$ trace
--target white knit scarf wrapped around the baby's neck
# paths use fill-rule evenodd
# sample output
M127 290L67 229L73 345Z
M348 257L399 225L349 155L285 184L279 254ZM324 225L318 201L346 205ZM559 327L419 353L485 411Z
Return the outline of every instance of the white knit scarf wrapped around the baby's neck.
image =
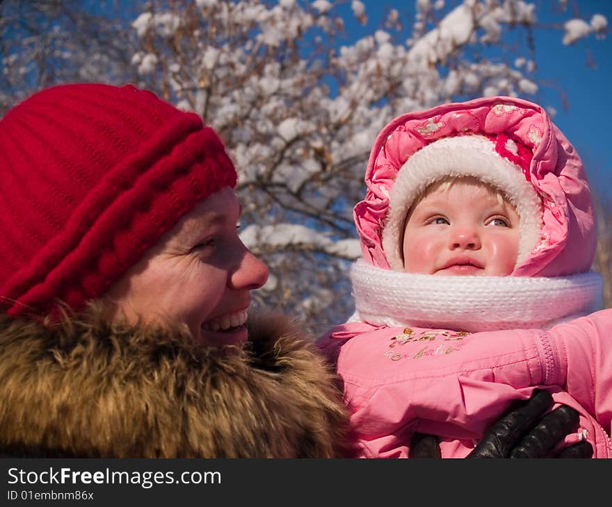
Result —
M602 277L595 272L554 278L434 276L351 267L355 314L387 326L458 331L542 328L602 307Z

